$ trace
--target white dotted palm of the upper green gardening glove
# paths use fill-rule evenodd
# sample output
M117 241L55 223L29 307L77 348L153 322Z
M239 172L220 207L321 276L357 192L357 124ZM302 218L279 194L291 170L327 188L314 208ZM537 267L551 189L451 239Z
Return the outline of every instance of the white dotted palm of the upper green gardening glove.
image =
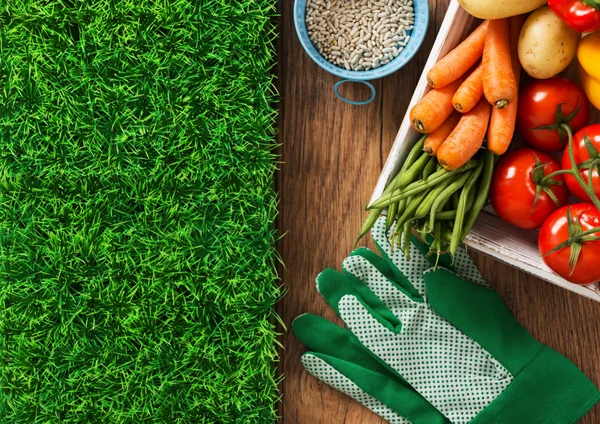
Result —
M506 368L426 302L394 305L387 294L390 282L382 275L369 285L388 296L387 304L402 322L400 331L388 330L352 295L340 300L341 318L367 349L450 421L468 423L510 384L513 377Z

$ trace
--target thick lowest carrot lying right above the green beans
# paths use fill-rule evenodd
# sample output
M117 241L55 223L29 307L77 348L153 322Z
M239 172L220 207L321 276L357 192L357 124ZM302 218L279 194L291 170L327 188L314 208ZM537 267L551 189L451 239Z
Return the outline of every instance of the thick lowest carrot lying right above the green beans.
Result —
M446 169L463 166L481 147L492 107L481 98L477 106L464 113L454 131L438 150L438 162Z

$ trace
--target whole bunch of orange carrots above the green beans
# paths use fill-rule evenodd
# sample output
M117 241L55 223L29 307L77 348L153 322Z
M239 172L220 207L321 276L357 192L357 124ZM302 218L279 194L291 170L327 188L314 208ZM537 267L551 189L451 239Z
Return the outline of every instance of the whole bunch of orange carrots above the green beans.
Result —
M448 170L481 148L506 152L514 135L521 64L517 45L525 16L484 21L427 74L432 90L410 112L428 134L423 150Z

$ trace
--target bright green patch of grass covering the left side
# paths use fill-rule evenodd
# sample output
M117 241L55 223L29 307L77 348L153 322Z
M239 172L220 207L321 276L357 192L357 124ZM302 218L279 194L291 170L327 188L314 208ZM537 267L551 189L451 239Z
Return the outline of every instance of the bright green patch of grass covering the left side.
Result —
M275 418L274 0L0 0L0 421Z

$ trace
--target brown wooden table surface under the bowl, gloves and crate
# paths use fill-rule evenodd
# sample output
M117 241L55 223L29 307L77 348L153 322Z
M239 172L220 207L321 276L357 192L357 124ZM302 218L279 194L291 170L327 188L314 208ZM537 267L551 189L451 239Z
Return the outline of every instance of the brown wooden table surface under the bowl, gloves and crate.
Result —
M287 328L294 317L312 312L341 323L315 289L327 267L340 269L421 74L448 0L430 0L430 25L416 57L393 75L374 81L377 98L350 106L333 94L338 80L302 50L293 25L293 1L280 2L278 89L281 94L281 160L278 248L288 290L278 311ZM345 87L365 98L363 87ZM373 248L370 241L365 241ZM519 272L481 254L472 257L519 322L540 342L563 353L600 385L600 304ZM300 363L304 347L291 330L282 336L281 422L337 424L384 422L349 397L309 375ZM600 423L600 406L581 421ZM527 423L506 423L527 424ZM560 424L560 423L558 423Z

